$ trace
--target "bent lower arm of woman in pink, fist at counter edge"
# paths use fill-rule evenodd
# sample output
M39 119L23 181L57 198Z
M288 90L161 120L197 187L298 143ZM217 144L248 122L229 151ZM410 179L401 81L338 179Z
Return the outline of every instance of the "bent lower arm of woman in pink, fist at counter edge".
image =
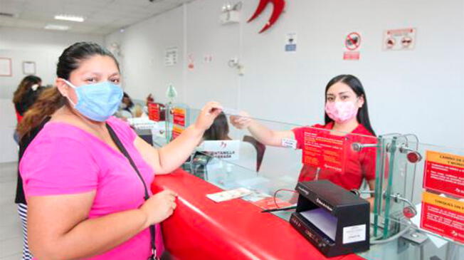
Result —
M95 191L28 198L28 243L38 259L80 259L115 248L175 209L174 192L164 191L139 209L88 219Z

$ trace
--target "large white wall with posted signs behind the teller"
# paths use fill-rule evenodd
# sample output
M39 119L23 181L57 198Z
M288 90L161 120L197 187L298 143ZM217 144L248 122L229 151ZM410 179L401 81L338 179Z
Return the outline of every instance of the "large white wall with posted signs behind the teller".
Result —
M364 83L378 134L414 132L422 142L464 147L464 0L287 1L261 34L270 7L246 23L258 0L243 1L241 23L221 26L222 4L197 0L107 36L107 44L122 44L126 90L165 100L172 82L179 101L195 108L218 100L255 117L311 125L322 122L327 81L352 73ZM382 51L384 30L407 27L417 28L413 51ZM342 60L351 31L362 33L360 61ZM283 51L290 32L297 33L297 53ZM184 57L174 67L162 64L169 46ZM186 67L188 54L194 71ZM201 61L205 54L212 63ZM245 66L242 77L226 65L234 56Z

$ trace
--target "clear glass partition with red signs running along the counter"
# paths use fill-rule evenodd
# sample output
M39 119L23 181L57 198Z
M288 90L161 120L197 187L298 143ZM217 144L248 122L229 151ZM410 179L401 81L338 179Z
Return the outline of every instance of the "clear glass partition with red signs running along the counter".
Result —
M200 113L183 104L165 107L165 121L145 124L157 147L188 128ZM226 110L222 122L228 125L226 135L205 135L182 166L184 170L221 189L250 189L253 193L243 199L261 209L294 205L299 181L330 180L352 190L371 203L371 250L360 254L367 259L459 259L464 254L460 237L464 229L464 189L460 189L464 186L464 150L423 144L415 135L374 137L249 118L265 129L287 134L294 130L269 145L248 129L234 127L231 117L236 115ZM137 128L137 120L130 123ZM458 173L450 177L443 169ZM424 180L439 182L428 187ZM447 187L455 187L454 193ZM423 211L424 205L428 212ZM443 205L451 213L441 212ZM272 214L288 220L292 212ZM439 231L439 224L458 231Z

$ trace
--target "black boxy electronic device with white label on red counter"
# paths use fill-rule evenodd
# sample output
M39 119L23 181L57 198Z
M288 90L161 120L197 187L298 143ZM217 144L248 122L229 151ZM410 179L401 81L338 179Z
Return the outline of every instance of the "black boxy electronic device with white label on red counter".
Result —
M328 180L299 182L290 224L328 257L369 250L369 202Z

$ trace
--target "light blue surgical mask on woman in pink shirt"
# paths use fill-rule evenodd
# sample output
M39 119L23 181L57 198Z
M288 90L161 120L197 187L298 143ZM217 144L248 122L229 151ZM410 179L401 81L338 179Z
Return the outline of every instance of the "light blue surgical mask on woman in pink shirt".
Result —
M76 87L68 80L65 80L71 88L74 88L78 96L78 103L73 103L68 98L75 110L91 120L103 122L113 115L122 100L122 89L119 85L110 81L103 81L95 84L80 85Z

